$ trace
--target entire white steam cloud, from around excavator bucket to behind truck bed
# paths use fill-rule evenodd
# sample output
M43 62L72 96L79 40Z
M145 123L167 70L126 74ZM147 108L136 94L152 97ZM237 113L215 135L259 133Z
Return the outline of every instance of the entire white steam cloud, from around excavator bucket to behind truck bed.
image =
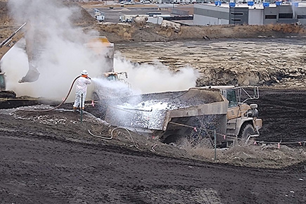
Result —
M1 68L6 72L7 90L15 91L18 96L61 99L82 70L88 70L89 76L96 82L96 77L107 71L103 68L105 58L97 58L93 51L84 46L98 33L94 30L85 33L72 25L70 19L81 17L78 16L81 13L78 7L68 8L63 6L62 1L56 0L11 0L8 5L15 22L19 25L26 22L29 26L25 39L33 43L30 46L34 50L39 51L34 54L40 76L36 82L18 83L28 70L25 41L20 41L1 62ZM118 53L114 68L116 72L127 71L127 81L141 93L185 90L195 87L198 77L198 72L193 68L186 67L174 73L159 62L155 62L155 65L138 65L125 60ZM87 96L90 97L90 94ZM74 94L70 94L68 101L73 101L73 97Z

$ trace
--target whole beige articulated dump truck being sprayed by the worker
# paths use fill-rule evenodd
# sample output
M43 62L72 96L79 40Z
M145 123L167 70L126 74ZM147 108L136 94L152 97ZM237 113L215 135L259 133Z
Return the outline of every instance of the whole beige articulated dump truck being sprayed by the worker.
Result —
M233 86L141 94L108 101L105 120L166 144L186 138L212 141L216 134L217 146L229 146L238 138L259 136L257 105L246 103L258 97L258 87Z

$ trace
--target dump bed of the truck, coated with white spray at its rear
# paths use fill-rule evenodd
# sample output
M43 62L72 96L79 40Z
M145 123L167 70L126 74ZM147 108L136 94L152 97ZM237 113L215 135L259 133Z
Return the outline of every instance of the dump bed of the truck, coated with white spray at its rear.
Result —
M216 89L191 88L188 91L171 91L130 96L115 100L106 113L106 122L111 125L161 131L170 130L170 121L191 124L191 117L219 115L225 133L228 101ZM173 129L173 127L171 128Z

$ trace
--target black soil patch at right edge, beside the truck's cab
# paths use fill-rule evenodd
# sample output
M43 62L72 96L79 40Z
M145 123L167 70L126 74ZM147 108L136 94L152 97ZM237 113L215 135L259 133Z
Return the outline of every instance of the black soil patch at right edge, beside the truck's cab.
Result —
M306 89L260 89L258 104L264 120L260 139L264 141L305 141Z

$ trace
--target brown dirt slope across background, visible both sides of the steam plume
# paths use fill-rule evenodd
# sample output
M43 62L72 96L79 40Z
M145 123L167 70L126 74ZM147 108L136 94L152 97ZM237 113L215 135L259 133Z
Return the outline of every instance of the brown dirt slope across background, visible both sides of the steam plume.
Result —
M79 15L73 15L72 23L83 27L84 31L97 30L108 37L110 42L164 42L182 39L227 39L227 38L257 38L257 37L288 37L303 36L305 27L294 24L281 25L214 25L214 26L184 26L180 30L173 27L162 27L152 23L113 24L96 23L94 18L82 5L64 1L64 6L77 6ZM17 27L8 13L6 1L0 1L1 39L8 37Z

